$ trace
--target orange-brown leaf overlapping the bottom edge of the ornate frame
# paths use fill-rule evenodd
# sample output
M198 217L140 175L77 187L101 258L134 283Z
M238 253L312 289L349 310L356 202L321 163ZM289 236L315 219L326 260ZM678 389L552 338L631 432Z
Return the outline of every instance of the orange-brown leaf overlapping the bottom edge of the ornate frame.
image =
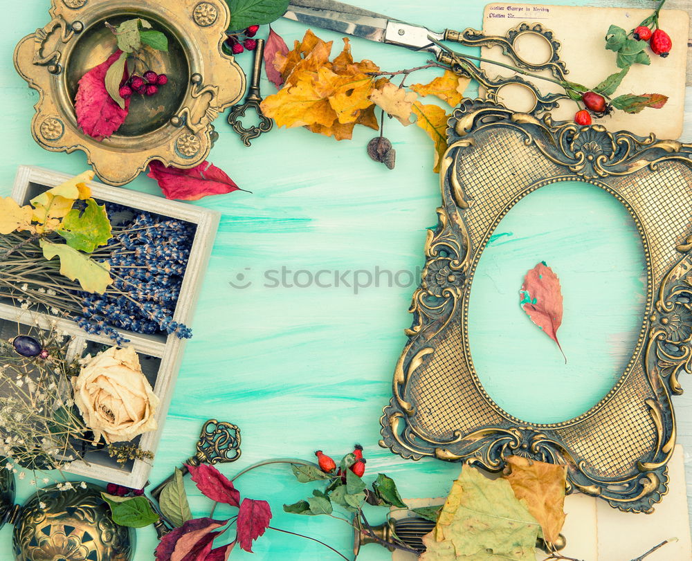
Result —
M514 495L524 499L531 515L543 528L543 539L555 543L565 523L567 468L553 463L510 456L507 476Z

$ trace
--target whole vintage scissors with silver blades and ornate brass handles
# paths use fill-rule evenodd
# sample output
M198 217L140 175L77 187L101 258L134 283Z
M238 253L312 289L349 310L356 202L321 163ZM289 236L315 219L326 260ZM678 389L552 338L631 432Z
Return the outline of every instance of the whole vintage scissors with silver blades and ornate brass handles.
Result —
M444 48L435 44L450 41L466 46L499 45L504 55L510 57L516 66L534 72L548 70L557 80L565 80L568 71L558 54L560 43L556 41L552 31L544 29L540 24L522 23L509 30L504 37L484 35L482 31L472 28L462 32L446 29L437 33L424 26L407 24L405 21L333 0L291 0L284 17L300 21L309 27L319 27L370 41L432 53L438 62L450 66L455 73L470 76L479 82L486 91L486 98L495 102L499 101L498 94L505 86L522 86L535 98L534 107L529 112L550 111L558 106L559 100L567 98L565 93L542 94L532 82L519 75L491 78L465 57L451 57ZM527 34L538 36L547 44L549 55L543 62L531 62L518 54L515 44L520 37ZM435 42L431 39L435 39Z

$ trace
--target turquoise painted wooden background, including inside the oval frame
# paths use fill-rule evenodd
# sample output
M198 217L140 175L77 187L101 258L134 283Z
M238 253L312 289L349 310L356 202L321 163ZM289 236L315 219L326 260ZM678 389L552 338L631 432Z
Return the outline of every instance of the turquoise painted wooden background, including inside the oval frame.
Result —
M358 4L434 29L446 25L477 28L484 6L478 0L359 0ZM612 6L612 2L608 4ZM629 4L651 3L635 0ZM684 6L689 8L687 0L677 2L677 7ZM35 144L29 123L37 95L12 68L15 44L48 21L47 10L45 0L13 3L2 24L2 195L10 192L19 164L69 173L86 167L79 152L52 154ZM274 27L289 44L304 33L304 27L290 21L278 21ZM335 39L335 49L340 46L338 35L316 32ZM353 41L353 52L356 58L370 58L391 71L426 60L422 54L358 39ZM247 69L251 57L245 54L239 61ZM421 72L413 78L414 82L426 82L434 75ZM263 80L262 89L268 94L273 86ZM221 136L210 160L253 194L237 192L193 203L219 210L223 217L152 482L158 483L192 454L201 424L216 417L237 423L243 432L242 459L222 467L226 475L271 457L310 458L318 448L338 456L359 441L369 460L366 474L385 472L394 477L404 497L443 495L458 466L434 460L403 461L377 445L378 419L390 398L392 369L406 341L403 328L410 324L407 309L415 288L412 279L422 265L426 228L434 226L439 204L438 176L431 172L430 140L415 126L405 129L388 122L385 134L397 149L397 167L388 171L367 158L365 145L374 131L363 127L353 140L342 142L303 129L280 129L253 142L249 149L229 131L223 118L219 118L217 130ZM692 140L690 127L683 140ZM474 360L489 366L487 383L493 397L516 412L535 410L535 421L569 416L597 401L610 387L614 369L626 355L633 331L639 329L641 257L631 224L614 200L583 187L565 185L564 194L574 206L561 208L562 214L556 212L562 199L554 190L546 189L522 201L522 208L509 214L498 230L503 235L493 242L493 254L484 257L486 275L477 277L474 288L473 305L480 312L472 326L472 336L477 339ZM145 176L127 188L159 193L154 181ZM559 227L561 221L567 221L565 217L585 215L587 220L572 220L569 230ZM615 259L614 255L621 257ZM567 367L552 342L528 324L516 304L525 270L545 256L565 286L569 312L565 312L561 335L570 358ZM587 265L588 270L583 270ZM379 286L373 283L357 294L348 286L271 288L275 284L268 280L275 277L271 271L280 272L282 267L293 273L329 269L339 274L355 270L375 273L379 268L399 275L389 286L387 273L382 273ZM295 285L293 273L286 275ZM365 273L360 275L366 278ZM610 304L606 302L601 309L596 305L601 302L599 292L605 282L617 276L621 277L622 291L613 291ZM352 282L353 273L346 278ZM306 279L307 273L300 273L295 280L304 284ZM230 282L251 285L233 288ZM614 321L607 322L606 318ZM493 364L497 338L501 336L504 344L511 333L521 340L513 341L506 362ZM594 356L590 358L582 349L592 349ZM536 358L540 371L531 369ZM602 365L598 375L583 374L583 367L594 362ZM524 383L529 375L541 384ZM576 380L581 384L583 379L590 380L585 387L592 391L576 400L559 395L565 389L571 392ZM692 387L689 380L682 383ZM530 387L530 391L519 394L522 387ZM680 441L692 450L692 398L682 396L675 404ZM692 482L692 461L689 454L686 458L687 477ZM244 496L268 500L274 526L320 537L348 555L352 533L345 523L282 512L282 504L309 495L311 489L295 482L286 468L256 470L238 484ZM188 491L194 513L208 515L210 502L189 481ZM20 499L29 493L26 480L22 481ZM219 516L225 514L230 511L217 511ZM384 511L370 513L371 522L384 518ZM151 560L154 531L144 528L137 534L136 560ZM2 561L12 558L10 540L11 529L3 528ZM236 549L232 558L253 556ZM255 545L257 560L318 558L337 557L314 542L274 531L267 531ZM366 546L360 558L385 560L389 553L379 546Z

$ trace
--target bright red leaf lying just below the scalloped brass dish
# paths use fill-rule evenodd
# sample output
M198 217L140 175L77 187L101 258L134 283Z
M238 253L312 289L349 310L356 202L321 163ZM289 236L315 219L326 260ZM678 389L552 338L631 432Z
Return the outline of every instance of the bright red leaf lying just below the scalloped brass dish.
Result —
M149 162L149 177L156 179L166 199L197 201L203 196L240 189L223 170L209 162L202 162L190 169L178 169L153 160Z

